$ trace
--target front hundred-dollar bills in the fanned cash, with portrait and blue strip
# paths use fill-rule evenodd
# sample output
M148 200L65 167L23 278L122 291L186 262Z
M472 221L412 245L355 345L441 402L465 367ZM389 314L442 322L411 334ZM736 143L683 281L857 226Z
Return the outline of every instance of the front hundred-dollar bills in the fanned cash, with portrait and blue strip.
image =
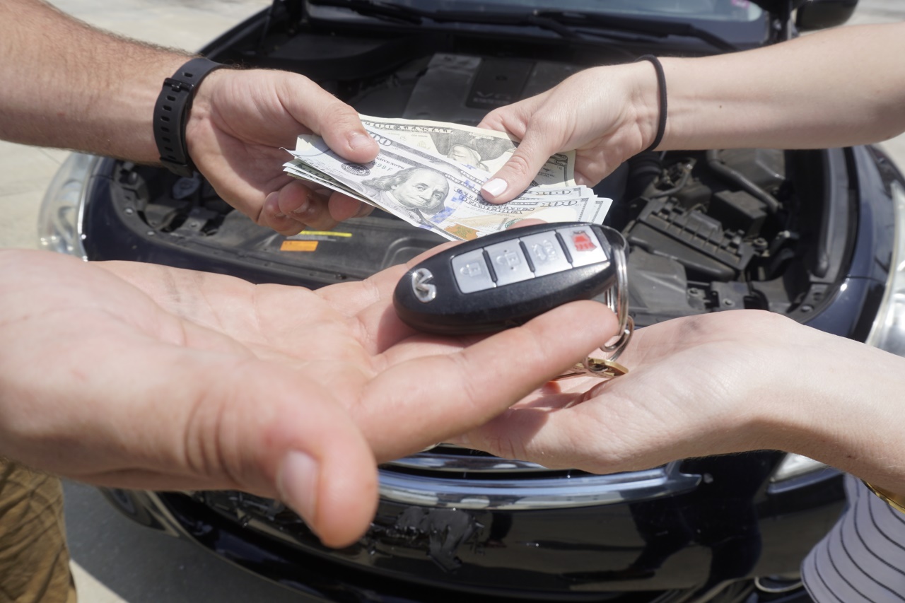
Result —
M449 239L470 240L536 217L547 222L600 224L610 200L587 187L532 187L504 205L481 197L491 175L369 129L377 158L356 164L340 158L316 136L300 136L287 173L381 207L406 222Z

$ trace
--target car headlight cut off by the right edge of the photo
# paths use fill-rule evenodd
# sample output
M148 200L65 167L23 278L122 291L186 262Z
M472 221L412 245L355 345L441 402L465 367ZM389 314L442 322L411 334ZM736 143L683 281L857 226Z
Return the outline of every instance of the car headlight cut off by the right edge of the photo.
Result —
M895 243L892 245L890 278L867 343L893 354L905 356L905 188L891 184L895 212Z

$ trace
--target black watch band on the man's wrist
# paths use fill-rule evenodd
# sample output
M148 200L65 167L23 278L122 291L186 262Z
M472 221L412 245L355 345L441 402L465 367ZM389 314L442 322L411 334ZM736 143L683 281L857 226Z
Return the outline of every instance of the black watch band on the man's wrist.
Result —
M164 80L163 89L154 105L154 140L160 163L182 177L195 174L195 164L188 156L186 121L192 108L195 89L208 73L225 67L205 58L195 58L180 67L173 77Z

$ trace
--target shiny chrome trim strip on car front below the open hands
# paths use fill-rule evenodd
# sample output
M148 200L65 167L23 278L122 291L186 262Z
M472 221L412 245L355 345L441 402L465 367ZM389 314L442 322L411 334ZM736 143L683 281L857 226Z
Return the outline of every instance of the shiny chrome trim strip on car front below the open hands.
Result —
M679 462L612 475L470 480L400 474L380 469L380 496L393 503L455 509L567 509L632 503L689 492L701 477L682 474Z

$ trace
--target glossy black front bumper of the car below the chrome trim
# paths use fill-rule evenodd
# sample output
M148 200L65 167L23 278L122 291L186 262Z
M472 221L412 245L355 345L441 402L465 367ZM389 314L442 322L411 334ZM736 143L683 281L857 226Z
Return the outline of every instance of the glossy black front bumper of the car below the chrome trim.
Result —
M835 522L843 505L836 472L769 493L778 455L742 456L700 459L693 468L710 475L706 487L632 506L471 512L382 502L367 535L344 550L323 547L291 513L278 513L275 521L274 514L254 511L265 505L248 495L238 517L180 493L106 494L132 519L157 529L175 525L227 560L328 600L434 601L459 592L487 601L647 601L786 571L788 560L804 557ZM221 496L232 497L233 506L243 494L214 499ZM280 537L263 525L278 525ZM576 531L562 531L565 526ZM519 568L505 562L512 555ZM624 570L640 558L661 567L626 578Z

